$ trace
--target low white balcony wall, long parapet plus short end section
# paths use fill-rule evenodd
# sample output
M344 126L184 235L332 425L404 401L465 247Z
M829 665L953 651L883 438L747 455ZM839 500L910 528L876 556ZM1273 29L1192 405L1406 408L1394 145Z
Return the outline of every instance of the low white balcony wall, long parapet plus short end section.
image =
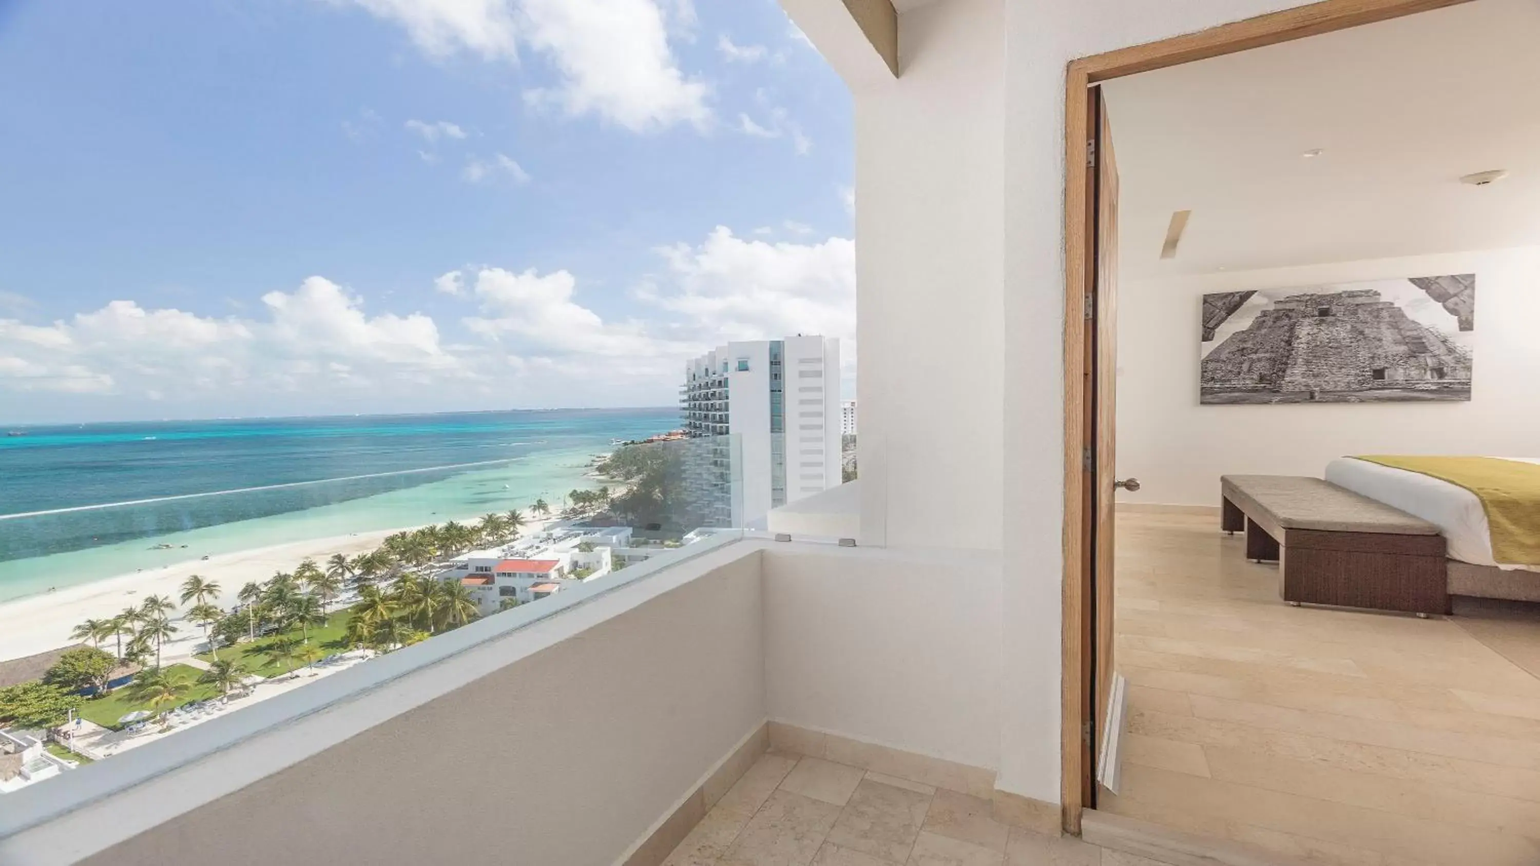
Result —
M86 863L605 866L767 720L993 771L998 575L998 561L955 554L736 541L601 597L602 617L574 608L497 638L487 651L557 635L137 837L92 846ZM591 625L562 634L570 617ZM413 675L459 677L474 652ZM69 861L66 849L34 854L82 826L131 824L156 797L129 791L72 829L42 828L26 849L0 841L0 861Z

